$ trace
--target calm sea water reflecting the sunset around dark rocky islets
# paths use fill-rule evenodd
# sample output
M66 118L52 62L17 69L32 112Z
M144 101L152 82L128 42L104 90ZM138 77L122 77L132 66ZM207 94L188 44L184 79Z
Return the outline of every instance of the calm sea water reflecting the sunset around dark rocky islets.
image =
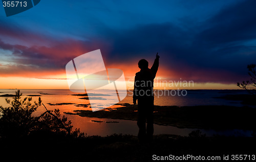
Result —
M15 94L15 89L0 89L0 95L5 94ZM73 110L86 110L84 107L77 107L77 104L89 104L89 100L79 99L83 98L81 96L72 96L76 94L70 90L46 90L46 89L21 89L23 93L23 98L27 95L40 95L42 102L49 110L54 110L55 108L60 109L60 112L72 112ZM90 92L90 91L89 91ZM108 92L108 90L101 90L102 93ZM230 105L230 106L243 106L241 101L229 101L224 99L216 99L214 97L220 97L228 94L246 94L244 90L187 90L186 96L172 96L169 91L156 91L155 105L160 106L196 106L196 105ZM177 92L177 91L176 91ZM183 95L184 95L183 91ZM108 100L99 100L100 104L108 104L106 102L113 100L114 94L109 94ZM32 97L33 100L38 100L38 97ZM11 97L10 97L11 99ZM114 101L114 100L113 100ZM57 103L72 103L70 105L50 105ZM126 98L120 103L130 103L132 104L132 93L128 91ZM100 106L99 104L99 106ZM7 107L8 104L5 102L5 97L0 97L0 105ZM34 115L40 115L45 111L43 106L40 106ZM80 128L82 132L87 133L87 135L111 135L113 133L122 134L132 134L137 135L138 128L136 121L127 120L113 120L113 119L98 119L98 118L88 118L79 117L78 115L65 114L69 120L72 121L74 128ZM100 120L102 123L95 123L92 120ZM105 123L107 121L117 121L119 123ZM154 134L178 134L178 135L188 135L194 129L180 129L172 126L159 126L155 125ZM242 130L226 130L226 131L214 131L214 130L202 130L207 135L212 134L225 134L225 135L250 135L249 131Z

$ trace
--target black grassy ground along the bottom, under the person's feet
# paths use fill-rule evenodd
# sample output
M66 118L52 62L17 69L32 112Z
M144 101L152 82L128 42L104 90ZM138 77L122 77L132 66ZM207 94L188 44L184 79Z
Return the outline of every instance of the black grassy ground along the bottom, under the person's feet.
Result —
M0 139L1 158L8 161L153 161L152 156L223 156L255 154L254 137L154 136L142 145L136 136L67 137L36 132L27 137Z

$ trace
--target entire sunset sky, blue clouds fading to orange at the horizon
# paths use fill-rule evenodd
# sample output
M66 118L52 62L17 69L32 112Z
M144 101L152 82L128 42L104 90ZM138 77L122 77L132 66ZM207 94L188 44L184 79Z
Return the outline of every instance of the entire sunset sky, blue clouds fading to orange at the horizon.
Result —
M132 88L138 61L184 89L238 89L256 63L256 1L49 1L6 17L0 7L0 88L68 89L65 66L100 49ZM156 88L177 87L157 86ZM182 87L180 87L182 88Z

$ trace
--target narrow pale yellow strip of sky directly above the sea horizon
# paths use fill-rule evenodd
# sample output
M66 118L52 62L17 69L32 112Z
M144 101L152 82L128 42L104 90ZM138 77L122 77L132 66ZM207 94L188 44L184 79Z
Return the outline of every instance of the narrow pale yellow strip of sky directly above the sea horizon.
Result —
M190 86L186 86L186 83L157 83L155 79L154 89L239 89L236 84L224 84L224 83L190 83ZM1 85L0 89L69 89L66 79L36 79L36 78L22 78L22 77L0 77ZM179 84L176 86L176 84ZM188 83L187 83L188 84ZM185 86L184 86L185 85ZM191 86L193 85L193 86ZM133 89L134 79L126 78L127 89Z

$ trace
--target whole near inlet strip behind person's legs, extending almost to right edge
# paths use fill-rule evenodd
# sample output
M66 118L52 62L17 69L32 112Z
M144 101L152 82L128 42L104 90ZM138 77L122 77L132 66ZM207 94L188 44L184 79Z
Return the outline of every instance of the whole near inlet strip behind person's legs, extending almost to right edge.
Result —
M99 119L99 118L89 118L89 117L80 117L78 115L70 115L67 114L68 119L72 121L74 128L80 128L80 131L87 133L87 135L100 135L106 136L114 133L122 133L122 134L131 134L137 135L139 129L137 127L136 121L129 120L118 120L118 119ZM92 122L102 121L101 123ZM110 121L115 121L118 123L106 123ZM190 128L177 128L173 126L162 126L154 124L154 135L158 134L175 134L188 136L188 134L196 129ZM225 135L225 136L251 136L251 131L248 130L205 130L200 129L202 134L206 134L206 136L214 136L214 135Z

